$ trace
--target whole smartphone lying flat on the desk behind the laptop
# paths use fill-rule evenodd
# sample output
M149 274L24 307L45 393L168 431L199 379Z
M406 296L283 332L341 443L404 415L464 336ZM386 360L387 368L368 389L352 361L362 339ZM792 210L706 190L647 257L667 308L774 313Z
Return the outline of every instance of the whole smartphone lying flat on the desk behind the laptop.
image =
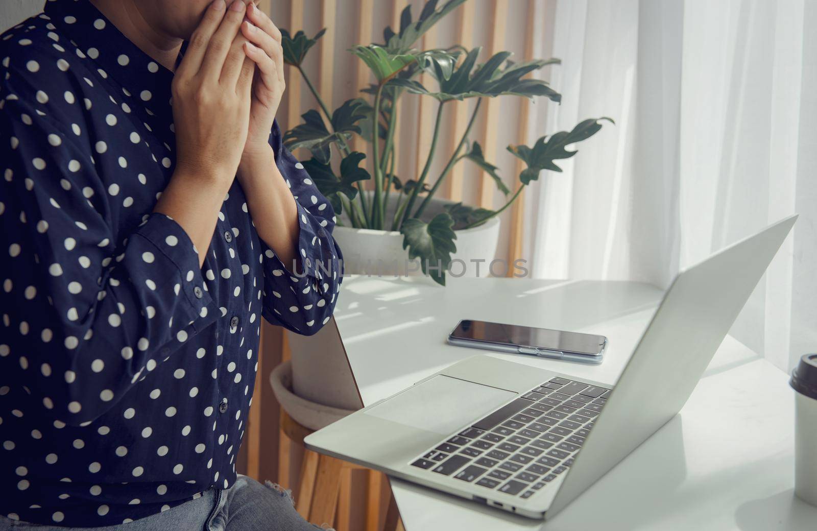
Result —
M607 338L548 328L463 319L449 334L449 343L511 354L600 364L604 359Z

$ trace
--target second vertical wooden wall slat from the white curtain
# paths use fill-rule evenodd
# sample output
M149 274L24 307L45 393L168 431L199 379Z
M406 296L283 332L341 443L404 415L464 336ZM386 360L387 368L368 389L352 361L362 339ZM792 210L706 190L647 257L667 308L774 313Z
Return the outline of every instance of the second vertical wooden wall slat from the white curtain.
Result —
M507 22L508 5L507 0L492 0L491 2L491 28L488 38L488 56L498 51L502 51L505 46L505 26ZM497 129L499 125L499 98L487 98L485 109L485 123L482 131L482 150L485 160L493 162L497 154ZM493 208L493 184L491 176L487 172L482 172L480 179L479 205L484 208Z

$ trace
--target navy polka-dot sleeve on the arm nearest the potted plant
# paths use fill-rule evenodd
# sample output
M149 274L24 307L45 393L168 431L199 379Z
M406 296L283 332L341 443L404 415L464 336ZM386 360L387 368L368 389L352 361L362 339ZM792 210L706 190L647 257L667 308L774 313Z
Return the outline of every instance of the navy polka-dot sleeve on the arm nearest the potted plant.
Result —
M335 212L303 165L283 146L277 121L270 144L279 171L297 203L300 274L293 273L261 241L263 316L271 324L310 336L332 317L342 281L342 253L332 237Z

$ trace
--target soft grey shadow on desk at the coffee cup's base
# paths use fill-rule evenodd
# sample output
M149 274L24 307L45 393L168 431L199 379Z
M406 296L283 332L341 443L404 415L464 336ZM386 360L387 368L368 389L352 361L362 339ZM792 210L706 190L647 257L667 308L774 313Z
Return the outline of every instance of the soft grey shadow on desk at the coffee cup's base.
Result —
M794 496L794 489L784 490L769 498L746 502L734 513L735 524L741 531L817 529L817 507Z

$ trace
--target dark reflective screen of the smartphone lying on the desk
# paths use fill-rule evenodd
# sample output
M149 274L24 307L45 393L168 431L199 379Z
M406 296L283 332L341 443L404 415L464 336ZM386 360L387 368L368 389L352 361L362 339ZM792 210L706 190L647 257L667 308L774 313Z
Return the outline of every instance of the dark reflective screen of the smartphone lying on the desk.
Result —
M519 346L538 346L562 352L596 355L605 337L548 328L531 328L516 324L462 320L451 332L452 337Z

